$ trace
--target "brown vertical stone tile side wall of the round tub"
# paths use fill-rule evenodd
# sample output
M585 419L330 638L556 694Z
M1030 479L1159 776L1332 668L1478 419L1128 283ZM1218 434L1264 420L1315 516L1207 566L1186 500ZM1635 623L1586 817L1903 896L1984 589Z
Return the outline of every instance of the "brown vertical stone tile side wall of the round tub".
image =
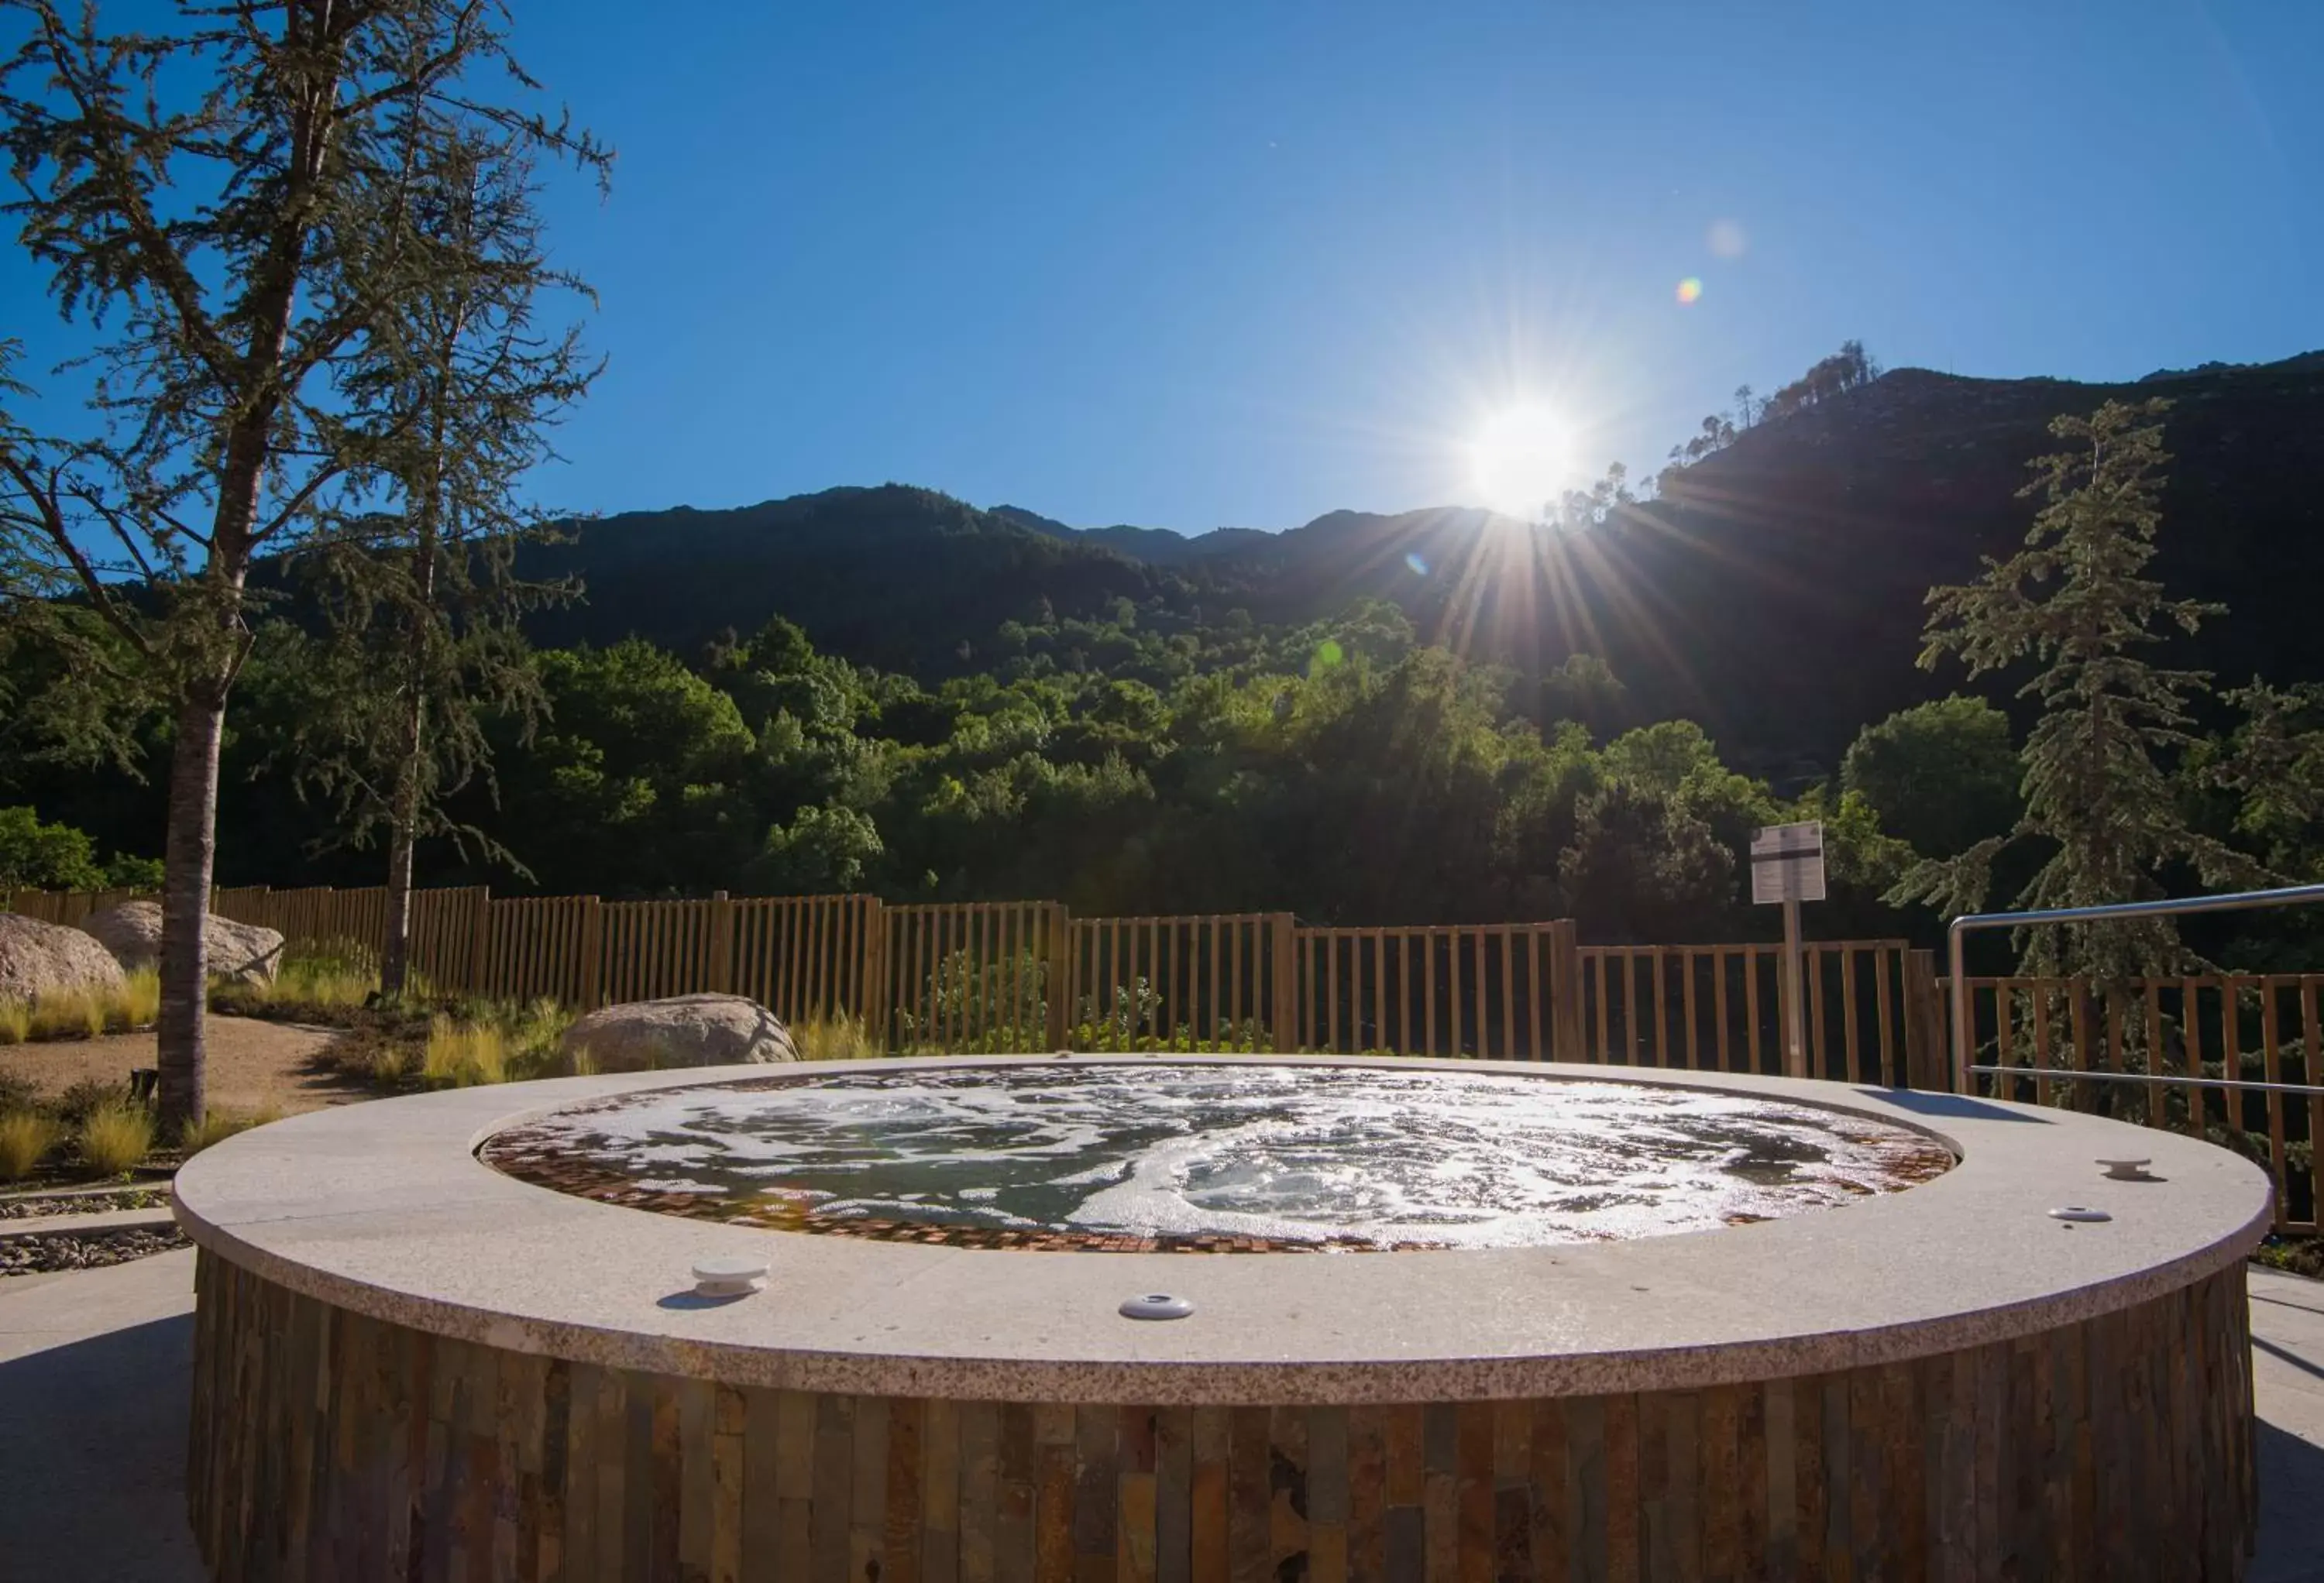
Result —
M2233 1578L2243 1267L2066 1330L1706 1390L1109 1406L737 1388L332 1309L205 1253L228 1578Z

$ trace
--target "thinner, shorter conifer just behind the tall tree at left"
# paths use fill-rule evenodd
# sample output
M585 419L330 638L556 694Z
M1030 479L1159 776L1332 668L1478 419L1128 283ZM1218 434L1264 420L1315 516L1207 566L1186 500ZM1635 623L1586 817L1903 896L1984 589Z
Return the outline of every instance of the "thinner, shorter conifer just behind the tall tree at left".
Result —
M381 465L386 502L311 542L325 637L286 635L307 683L297 776L335 797L342 841L386 837L386 995L400 995L409 972L421 839L451 837L462 855L525 872L446 804L479 779L490 788L488 716L528 739L544 714L518 621L576 588L516 576L518 544L548 537L546 514L521 504L518 488L551 456L546 425L597 374L576 330L535 325L541 293L586 288L539 249L523 146L504 135L425 137L414 167L442 270L346 374L358 402L402 414L402 442Z

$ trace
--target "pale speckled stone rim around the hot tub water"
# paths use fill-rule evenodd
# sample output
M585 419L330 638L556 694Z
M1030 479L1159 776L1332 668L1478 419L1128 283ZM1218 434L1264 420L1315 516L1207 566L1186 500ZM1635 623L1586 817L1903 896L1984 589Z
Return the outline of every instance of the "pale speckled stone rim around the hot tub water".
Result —
M1624 1067L1299 1065L1822 1104L1934 1132L1961 1165L1878 1199L1627 1244L1092 1260L681 1220L532 1188L474 1160L493 1132L576 1102L767 1076L727 1067L297 1116L188 1162L179 1220L216 1258L290 1292L528 1355L776 1390L1157 1406L1534 1399L1906 1362L2194 1285L2268 1225L2268 1181L2250 1162L2071 1111ZM2106 1179L2096 1160L2124 1153L2150 1155L2157 1181ZM2052 1220L2061 1204L2113 1220ZM693 1297L693 1262L716 1255L765 1258L767 1290ZM1141 1290L1188 1297L1195 1316L1120 1318Z

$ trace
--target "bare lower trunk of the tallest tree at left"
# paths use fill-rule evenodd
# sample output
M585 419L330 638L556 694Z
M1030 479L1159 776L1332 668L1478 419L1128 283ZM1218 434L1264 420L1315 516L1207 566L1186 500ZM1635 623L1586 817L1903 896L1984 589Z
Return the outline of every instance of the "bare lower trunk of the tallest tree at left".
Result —
M170 755L170 835L160 893L160 1125L163 1137L202 1120L209 1004L209 886L218 830L218 744L225 688L188 688Z

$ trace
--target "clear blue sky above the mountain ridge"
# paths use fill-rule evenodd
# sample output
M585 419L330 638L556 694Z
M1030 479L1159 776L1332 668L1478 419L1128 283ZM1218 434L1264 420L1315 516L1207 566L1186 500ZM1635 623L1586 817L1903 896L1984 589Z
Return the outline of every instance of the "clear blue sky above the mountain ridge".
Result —
M1845 337L2085 379L2324 346L2319 0L516 19L621 151L551 195L609 358L541 479L574 509L895 479L1285 528L1473 497L1525 397L1650 467ZM14 256L0 302L49 314Z

